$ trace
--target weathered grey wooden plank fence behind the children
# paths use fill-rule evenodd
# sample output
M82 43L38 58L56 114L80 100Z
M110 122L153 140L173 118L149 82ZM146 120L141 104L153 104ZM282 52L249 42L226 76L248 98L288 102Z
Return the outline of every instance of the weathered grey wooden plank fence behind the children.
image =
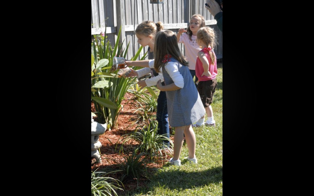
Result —
M193 14L201 14L205 18L206 26L214 28L218 38L218 46L214 49L217 59L222 58L222 32L217 28L216 20L205 8L206 0L164 0L162 4L150 3L150 0L91 0L91 34L105 32L112 47L116 42L117 33L121 27L123 48L129 48L127 59L138 51L140 45L134 30L145 20L162 22L165 29L177 33L180 28L187 28ZM139 59L146 52L145 47ZM179 44L185 55L183 44Z

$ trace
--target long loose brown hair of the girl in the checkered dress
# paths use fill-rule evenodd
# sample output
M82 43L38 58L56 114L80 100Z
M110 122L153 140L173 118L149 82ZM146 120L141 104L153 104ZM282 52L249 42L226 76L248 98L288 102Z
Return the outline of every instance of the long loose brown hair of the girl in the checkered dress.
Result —
M162 60L167 54L171 55L182 65L189 66L179 49L176 34L171 30L161 30L156 34L154 44L154 68L156 72L159 72L163 65Z

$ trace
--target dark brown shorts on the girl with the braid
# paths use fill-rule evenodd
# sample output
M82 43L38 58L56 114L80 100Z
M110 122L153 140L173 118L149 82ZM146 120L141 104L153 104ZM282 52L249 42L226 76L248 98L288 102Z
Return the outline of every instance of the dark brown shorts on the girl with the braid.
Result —
M198 82L198 93L201 97L204 108L207 108L211 103L213 103L213 95L216 91L217 80L199 81Z

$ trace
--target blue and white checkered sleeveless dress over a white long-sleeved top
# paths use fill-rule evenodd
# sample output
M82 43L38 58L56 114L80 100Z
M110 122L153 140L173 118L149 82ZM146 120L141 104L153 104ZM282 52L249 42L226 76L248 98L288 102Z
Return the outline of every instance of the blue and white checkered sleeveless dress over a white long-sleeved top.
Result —
M178 66L183 77L184 87L175 91L166 91L169 124L171 127L193 124L205 114L203 103L189 68L173 57L170 60ZM162 75L164 76L165 85L174 83L165 70L165 64L162 66Z

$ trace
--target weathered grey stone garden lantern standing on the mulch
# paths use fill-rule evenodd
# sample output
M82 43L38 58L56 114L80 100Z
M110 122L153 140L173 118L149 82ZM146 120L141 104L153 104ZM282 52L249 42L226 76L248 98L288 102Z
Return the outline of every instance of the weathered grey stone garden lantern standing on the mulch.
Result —
M94 122L93 116L92 116L92 129L91 129L91 156L95 157L97 163L102 163L100 154L98 149L101 147L101 143L99 140L99 135L105 133L107 124L100 124L98 122Z

